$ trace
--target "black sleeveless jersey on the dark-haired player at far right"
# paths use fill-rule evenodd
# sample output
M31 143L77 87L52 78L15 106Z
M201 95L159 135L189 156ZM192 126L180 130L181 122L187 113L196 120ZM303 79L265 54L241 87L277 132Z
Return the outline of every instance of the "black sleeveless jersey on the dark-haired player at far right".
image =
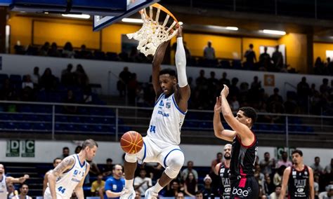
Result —
M308 167L304 165L303 170L298 171L292 166L288 180L288 198L308 198L310 195Z

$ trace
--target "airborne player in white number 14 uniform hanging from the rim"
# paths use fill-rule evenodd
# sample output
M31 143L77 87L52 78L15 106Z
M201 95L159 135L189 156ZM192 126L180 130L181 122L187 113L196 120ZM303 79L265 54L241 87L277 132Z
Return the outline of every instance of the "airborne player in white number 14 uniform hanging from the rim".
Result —
M178 144L181 142L181 126L188 110L190 86L186 77L186 58L183 46L182 27L178 27L176 49L176 71L161 70L164 53L169 43L162 43L152 61L152 84L156 94L156 103L152 118L143 137L143 149L136 154L126 153L125 188L120 198L132 199L136 193L133 177L137 162L159 163L165 170L155 186L145 191L145 198L157 198L159 191L176 178L184 163L184 155ZM178 84L177 84L178 80Z

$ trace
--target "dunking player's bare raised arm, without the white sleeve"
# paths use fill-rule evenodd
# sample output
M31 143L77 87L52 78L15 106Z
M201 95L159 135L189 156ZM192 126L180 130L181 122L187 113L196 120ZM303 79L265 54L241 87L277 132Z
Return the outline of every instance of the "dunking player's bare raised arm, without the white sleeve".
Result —
M169 46L169 41L161 43L156 50L154 60L152 60L152 85L155 90L156 99L161 95L162 89L159 85L159 71L161 71L161 64L164 59L165 50Z

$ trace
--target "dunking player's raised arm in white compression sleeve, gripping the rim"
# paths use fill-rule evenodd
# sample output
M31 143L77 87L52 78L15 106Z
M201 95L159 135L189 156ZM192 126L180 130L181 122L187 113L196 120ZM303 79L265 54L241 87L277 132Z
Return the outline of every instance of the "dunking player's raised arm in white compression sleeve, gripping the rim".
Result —
M176 90L176 102L181 111L187 111L188 99L190 99L191 90L188 85L188 77L186 76L186 55L183 44L183 27L178 27L177 34L177 49L175 55L175 62L177 68L178 89Z

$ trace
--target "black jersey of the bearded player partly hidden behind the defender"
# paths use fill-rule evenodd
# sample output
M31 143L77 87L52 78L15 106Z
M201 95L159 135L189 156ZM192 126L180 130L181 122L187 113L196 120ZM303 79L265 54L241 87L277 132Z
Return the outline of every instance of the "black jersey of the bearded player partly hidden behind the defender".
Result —
M230 169L226 165L221 164L220 170L218 170L218 175L220 176L220 187L218 192L221 195L221 198L228 199L230 198L231 186L230 186Z

